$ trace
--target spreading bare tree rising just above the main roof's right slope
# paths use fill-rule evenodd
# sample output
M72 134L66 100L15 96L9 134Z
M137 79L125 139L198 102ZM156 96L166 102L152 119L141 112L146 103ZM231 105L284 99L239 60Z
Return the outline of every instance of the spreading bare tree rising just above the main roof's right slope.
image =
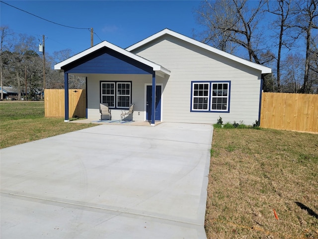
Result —
M196 11L199 23L206 27L203 34L208 33L203 41L227 51L230 43L243 47L247 50L248 59L257 64L271 61L274 56L268 51L264 54L265 59L260 58L261 35L257 30L264 4L264 0L258 0L252 8L247 0L205 0Z

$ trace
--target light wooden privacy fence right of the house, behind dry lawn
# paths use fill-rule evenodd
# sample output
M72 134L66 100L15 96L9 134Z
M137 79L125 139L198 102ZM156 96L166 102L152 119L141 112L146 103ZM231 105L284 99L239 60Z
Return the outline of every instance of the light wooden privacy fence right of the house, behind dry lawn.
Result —
M318 132L318 95L263 93L260 126Z

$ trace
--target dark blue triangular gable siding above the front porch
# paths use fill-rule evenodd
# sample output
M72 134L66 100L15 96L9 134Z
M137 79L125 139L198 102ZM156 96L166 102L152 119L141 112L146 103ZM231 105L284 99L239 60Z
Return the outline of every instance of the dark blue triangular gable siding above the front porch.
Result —
M153 74L153 68L103 47L62 67L65 73L83 74Z

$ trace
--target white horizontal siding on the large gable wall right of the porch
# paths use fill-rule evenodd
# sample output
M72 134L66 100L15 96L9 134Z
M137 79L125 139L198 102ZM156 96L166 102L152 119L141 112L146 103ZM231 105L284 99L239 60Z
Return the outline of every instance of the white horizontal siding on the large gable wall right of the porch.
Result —
M261 72L165 35L133 53L171 71L164 86L163 121L216 123L258 119ZM231 81L230 113L190 112L191 81Z

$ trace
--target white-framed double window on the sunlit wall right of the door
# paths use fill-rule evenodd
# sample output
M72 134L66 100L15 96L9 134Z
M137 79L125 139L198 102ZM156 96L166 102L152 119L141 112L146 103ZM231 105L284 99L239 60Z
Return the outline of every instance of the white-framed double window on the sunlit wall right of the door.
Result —
M230 81L192 82L192 112L230 112Z

